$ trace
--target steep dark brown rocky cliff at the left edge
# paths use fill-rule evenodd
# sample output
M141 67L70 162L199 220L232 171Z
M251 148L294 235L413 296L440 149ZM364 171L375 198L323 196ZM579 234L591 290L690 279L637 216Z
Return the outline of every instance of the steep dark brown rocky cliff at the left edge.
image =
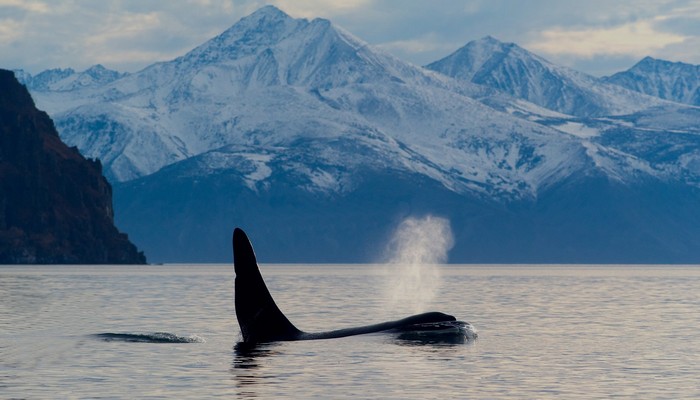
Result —
M145 263L113 218L100 162L66 146L0 70L0 263Z

